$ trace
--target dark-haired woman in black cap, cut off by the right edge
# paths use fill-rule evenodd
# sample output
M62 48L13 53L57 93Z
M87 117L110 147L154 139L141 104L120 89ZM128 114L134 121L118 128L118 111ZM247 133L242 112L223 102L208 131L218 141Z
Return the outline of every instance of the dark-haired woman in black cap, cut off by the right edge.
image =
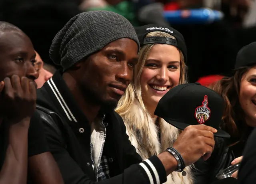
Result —
M225 100L221 128L231 135L225 162L236 164L242 160L245 143L256 127L256 42L238 52L232 76L224 77L210 88ZM237 173L232 177L237 177Z

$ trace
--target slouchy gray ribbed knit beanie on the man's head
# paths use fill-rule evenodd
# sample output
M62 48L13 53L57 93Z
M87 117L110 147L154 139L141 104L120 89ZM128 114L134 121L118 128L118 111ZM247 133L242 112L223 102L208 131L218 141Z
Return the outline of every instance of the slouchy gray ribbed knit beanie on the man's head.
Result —
M50 58L65 71L84 57L121 38L134 40L139 51L138 37L126 18L109 11L83 12L70 19L54 37Z

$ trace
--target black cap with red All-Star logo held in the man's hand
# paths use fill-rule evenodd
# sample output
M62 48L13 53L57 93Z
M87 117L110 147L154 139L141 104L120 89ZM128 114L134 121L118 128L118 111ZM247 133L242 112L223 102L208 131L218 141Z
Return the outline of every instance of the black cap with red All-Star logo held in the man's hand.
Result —
M200 83L186 83L170 89L160 99L154 114L181 130L204 124L218 130L214 136L230 138L220 129L223 108L224 100L218 93Z

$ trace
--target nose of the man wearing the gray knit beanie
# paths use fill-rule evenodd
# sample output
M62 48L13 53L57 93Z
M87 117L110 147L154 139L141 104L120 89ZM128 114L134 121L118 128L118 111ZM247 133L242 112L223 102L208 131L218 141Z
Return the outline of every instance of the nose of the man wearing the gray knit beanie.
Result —
M131 69L127 62L123 62L121 67L117 69L116 78L118 81L129 85L132 81L133 69Z

